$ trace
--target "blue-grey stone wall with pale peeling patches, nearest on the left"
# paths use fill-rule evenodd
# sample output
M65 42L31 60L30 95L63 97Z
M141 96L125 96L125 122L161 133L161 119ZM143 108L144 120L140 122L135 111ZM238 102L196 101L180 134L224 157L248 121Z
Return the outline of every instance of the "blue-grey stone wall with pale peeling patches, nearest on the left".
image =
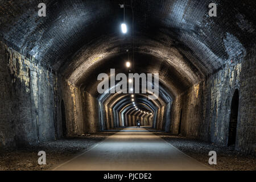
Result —
M0 147L55 139L56 76L0 42Z

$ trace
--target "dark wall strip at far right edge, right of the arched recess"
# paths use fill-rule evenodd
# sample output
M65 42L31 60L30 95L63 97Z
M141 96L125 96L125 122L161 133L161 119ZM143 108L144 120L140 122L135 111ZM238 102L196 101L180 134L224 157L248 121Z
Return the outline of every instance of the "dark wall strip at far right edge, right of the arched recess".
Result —
M248 52L240 74L241 107L237 149L256 155L256 46Z

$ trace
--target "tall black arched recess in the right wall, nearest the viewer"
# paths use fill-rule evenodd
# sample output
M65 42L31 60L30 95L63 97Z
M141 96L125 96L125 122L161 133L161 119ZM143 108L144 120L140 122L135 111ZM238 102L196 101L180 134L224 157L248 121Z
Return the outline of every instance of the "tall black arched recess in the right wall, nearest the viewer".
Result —
M236 144L237 119L238 119L239 93L235 90L230 110L228 146Z

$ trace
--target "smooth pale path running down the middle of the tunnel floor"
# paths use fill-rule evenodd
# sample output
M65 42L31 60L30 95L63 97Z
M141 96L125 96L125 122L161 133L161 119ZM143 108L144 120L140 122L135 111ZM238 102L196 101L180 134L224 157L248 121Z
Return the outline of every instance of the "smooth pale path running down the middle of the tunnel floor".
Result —
M170 171L211 170L148 132L128 127L53 170Z

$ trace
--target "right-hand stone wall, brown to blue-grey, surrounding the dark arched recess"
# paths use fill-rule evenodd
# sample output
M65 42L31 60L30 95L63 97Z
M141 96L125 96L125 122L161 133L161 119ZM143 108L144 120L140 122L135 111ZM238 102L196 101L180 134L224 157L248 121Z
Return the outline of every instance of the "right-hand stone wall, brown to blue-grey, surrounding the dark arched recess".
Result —
M227 146L231 102L238 89L236 150L255 155L255 57L254 47L246 57L230 60L205 81L177 96L171 109L171 133L179 134L181 121L181 134L185 137Z

